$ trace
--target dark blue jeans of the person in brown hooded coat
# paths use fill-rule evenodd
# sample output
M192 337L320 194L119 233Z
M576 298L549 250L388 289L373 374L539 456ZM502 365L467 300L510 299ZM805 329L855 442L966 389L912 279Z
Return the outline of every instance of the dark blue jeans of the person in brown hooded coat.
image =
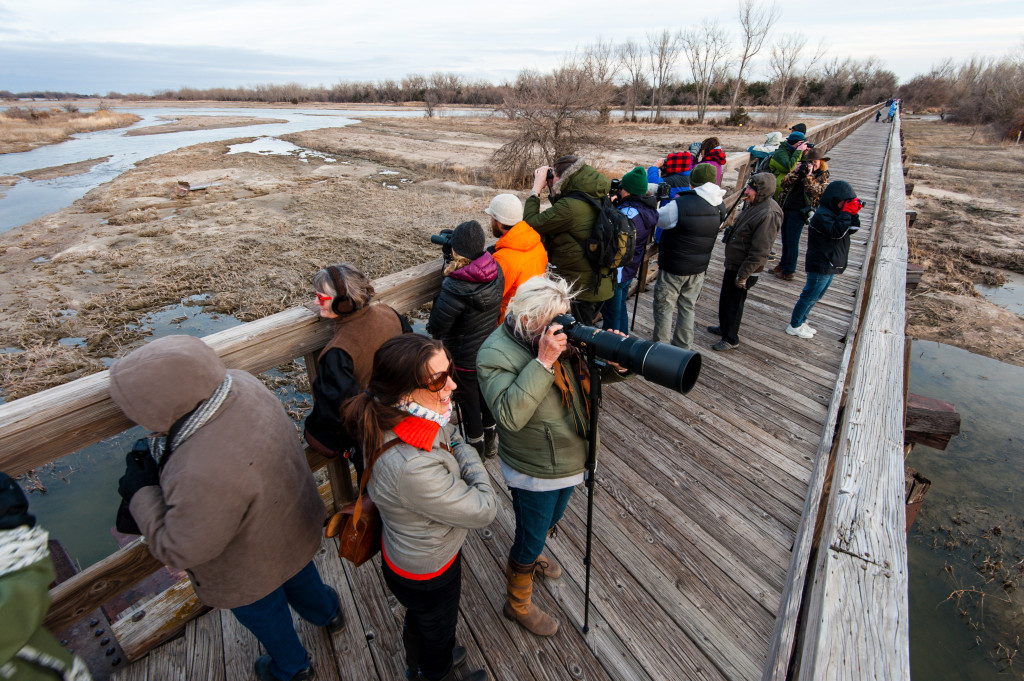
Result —
M255 603L231 608L236 619L266 648L271 657L270 673L282 681L288 681L309 667L309 653L295 633L289 605L299 616L317 627L327 625L340 607L310 560L298 574L269 595Z

